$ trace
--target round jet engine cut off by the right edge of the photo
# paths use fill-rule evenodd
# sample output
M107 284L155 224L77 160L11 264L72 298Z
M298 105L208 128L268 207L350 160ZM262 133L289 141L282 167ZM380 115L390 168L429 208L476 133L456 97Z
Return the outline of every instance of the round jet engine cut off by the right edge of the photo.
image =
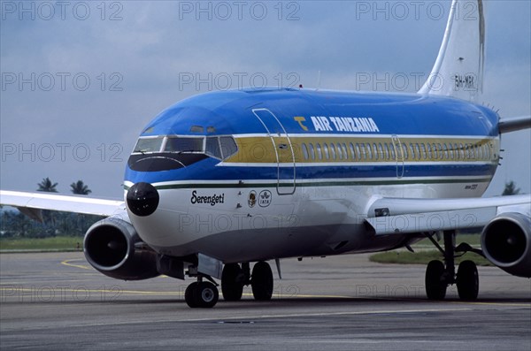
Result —
M496 216L481 233L491 263L518 277L531 277L531 218L517 212Z

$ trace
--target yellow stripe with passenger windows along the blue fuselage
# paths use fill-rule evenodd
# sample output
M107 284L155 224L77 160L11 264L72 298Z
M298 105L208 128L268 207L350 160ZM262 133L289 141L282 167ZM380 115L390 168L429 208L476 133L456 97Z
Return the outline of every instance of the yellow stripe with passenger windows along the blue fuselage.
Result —
M376 135L235 135L238 152L226 164L498 162L499 141L489 137ZM274 142L274 144L273 144ZM295 158L295 159L294 159Z

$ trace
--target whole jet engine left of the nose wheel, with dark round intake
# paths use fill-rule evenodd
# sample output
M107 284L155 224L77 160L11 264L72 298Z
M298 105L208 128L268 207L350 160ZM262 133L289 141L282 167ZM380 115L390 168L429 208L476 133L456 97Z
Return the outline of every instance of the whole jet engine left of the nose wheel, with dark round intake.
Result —
M157 254L142 245L133 225L108 217L92 225L83 240L87 261L114 279L141 280L160 275Z

